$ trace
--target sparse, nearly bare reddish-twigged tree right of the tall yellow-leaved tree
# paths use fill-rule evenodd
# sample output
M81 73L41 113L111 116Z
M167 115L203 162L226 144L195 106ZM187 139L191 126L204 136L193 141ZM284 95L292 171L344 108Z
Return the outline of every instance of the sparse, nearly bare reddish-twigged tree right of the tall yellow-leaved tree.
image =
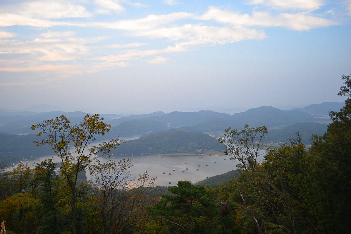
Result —
M133 177L130 159L112 160L94 166L95 180L91 192L94 210L86 216L88 229L106 234L120 233L133 215L135 207L143 203L143 192L153 186L154 178L145 172Z

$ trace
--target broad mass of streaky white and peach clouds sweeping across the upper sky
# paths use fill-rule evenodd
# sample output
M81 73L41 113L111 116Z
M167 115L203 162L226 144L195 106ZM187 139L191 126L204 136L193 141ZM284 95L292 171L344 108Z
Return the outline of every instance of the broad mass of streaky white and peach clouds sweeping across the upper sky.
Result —
M134 19L126 19L123 15L118 16L118 19L123 20L115 20L117 16L113 16L113 21L77 18L94 16L84 7L84 3L95 3L95 6L87 6L101 14L118 14L126 11L121 5L122 1L82 0L80 1L82 5L72 2L68 0L34 1L17 5L16 8L0 9L0 27L8 27L11 30L11 26L20 25L37 29L33 30L35 32L31 35L31 39L16 38L18 34L0 31L0 38L14 37L13 40L0 40L1 57L5 58L1 61L0 71L38 72L43 77L51 77L47 81L65 79L74 74L128 66L136 60L150 64L164 63L168 61L164 55L187 52L190 48L223 45L243 40L263 40L267 37L264 32L265 27L308 31L312 28L336 24L311 13L312 9L322 6L323 2L318 0L311 0L305 6L298 0L251 2L254 5L261 4L279 9L303 10L294 11L294 13L273 14L272 12L275 11L253 11L250 14L241 14L224 11L219 7L209 7L202 15L173 12L149 14ZM127 1L123 3L135 5ZM175 1L165 1L165 3L176 4ZM351 6L351 0L348 3L348 6ZM106 19L99 17L99 19ZM66 28L68 28L67 31L64 30ZM99 37L82 38L79 37L79 30L82 28L85 30L102 28L103 30L99 31L102 32ZM129 38L126 40L124 35L128 35ZM158 40L155 43L148 39ZM147 49L143 49L142 46Z

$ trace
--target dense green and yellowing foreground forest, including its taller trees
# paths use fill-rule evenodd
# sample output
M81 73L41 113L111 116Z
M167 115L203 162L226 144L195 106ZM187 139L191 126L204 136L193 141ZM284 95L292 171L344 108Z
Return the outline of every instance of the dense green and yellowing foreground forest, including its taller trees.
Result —
M147 173L133 178L130 160L93 163L122 143L90 145L110 130L99 115L86 115L78 125L63 115L33 125L35 143L60 156L60 173L50 160L35 169L1 171L0 219L10 234L349 233L351 77L342 79L345 105L330 112L332 123L308 148L292 133L289 143L268 148L258 163L267 127L227 128L219 141L239 170L216 187L179 181L165 191ZM95 179L79 179L84 170Z

